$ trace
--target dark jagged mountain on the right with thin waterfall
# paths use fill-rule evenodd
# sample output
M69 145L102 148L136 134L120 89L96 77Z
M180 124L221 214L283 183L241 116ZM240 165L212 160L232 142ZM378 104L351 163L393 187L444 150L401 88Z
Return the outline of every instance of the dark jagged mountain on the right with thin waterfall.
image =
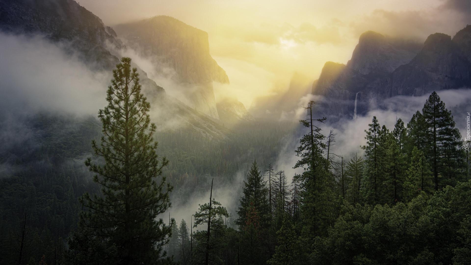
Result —
M347 65L327 62L312 93L324 96L318 108L326 116L365 113L372 102L396 95L421 96L431 91L471 85L471 26L453 40L431 34L423 43L368 31Z

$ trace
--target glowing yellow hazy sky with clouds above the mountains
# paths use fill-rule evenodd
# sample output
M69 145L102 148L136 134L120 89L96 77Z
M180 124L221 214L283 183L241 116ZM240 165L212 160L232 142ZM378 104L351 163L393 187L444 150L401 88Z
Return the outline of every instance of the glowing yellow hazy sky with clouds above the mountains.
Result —
M367 30L419 41L454 35L469 0L80 0L106 25L168 15L209 34L211 55L247 106L283 90L297 71L317 79L326 61L347 63ZM227 91L227 88L224 87ZM249 107L247 106L247 107Z

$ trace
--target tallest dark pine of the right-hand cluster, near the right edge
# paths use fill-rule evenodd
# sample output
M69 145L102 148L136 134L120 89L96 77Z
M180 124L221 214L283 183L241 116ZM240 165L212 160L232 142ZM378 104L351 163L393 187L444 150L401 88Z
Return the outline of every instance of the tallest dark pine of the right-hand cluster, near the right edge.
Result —
M435 190L454 185L463 176L464 151L451 111L434 91L422 108L422 116L426 126L424 154L431 166Z

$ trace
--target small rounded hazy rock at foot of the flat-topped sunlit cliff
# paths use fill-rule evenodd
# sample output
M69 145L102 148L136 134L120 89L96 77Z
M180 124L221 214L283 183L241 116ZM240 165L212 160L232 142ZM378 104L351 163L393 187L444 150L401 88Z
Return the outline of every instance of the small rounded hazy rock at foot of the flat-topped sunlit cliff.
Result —
M247 111L244 104L236 99L223 99L216 104L219 118L225 125L235 125L240 122L253 121L253 116Z

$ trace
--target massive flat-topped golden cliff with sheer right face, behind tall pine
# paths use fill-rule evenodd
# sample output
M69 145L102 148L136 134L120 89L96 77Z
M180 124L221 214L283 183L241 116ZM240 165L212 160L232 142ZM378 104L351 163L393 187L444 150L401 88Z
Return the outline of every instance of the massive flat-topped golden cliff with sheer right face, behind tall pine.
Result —
M158 75L167 74L183 83L185 91L180 92L192 107L219 118L212 82L229 83L229 78L209 53L208 33L168 16L116 25L114 29L128 47L152 60Z

